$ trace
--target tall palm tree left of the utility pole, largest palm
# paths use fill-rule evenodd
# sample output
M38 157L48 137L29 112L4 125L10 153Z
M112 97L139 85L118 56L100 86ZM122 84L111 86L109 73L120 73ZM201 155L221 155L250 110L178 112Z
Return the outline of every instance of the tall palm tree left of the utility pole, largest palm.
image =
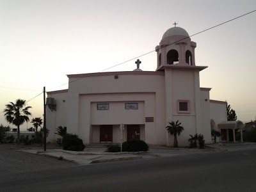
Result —
M26 107L26 100L17 99L16 103L9 102L5 105L4 116L6 120L13 125L17 126L17 144L20 144L20 125L24 122L29 122L29 115L31 113L28 111L31 106Z

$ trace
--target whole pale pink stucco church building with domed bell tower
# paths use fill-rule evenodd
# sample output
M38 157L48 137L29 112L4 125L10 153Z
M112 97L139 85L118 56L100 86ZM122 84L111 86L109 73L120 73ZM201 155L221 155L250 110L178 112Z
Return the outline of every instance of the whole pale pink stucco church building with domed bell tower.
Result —
M196 133L211 143L211 125L227 120L227 103L200 88L199 74L207 67L195 64L195 48L186 30L174 27L156 46L156 71L142 71L137 62L133 71L68 75L68 90L47 92L47 141L56 141L61 125L85 144L120 143L124 124L123 141L172 146L166 126L179 120L180 146Z

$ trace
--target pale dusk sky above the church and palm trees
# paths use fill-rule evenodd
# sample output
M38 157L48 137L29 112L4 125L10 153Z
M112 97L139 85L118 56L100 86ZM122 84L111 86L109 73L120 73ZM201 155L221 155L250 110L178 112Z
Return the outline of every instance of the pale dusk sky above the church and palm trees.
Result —
M43 94L35 96L67 89L67 74L131 71L137 59L156 70L155 47L174 22L191 36L254 10L255 0L0 0L0 124L10 125L3 110L16 99L43 117ZM196 65L208 66L200 86L243 122L256 118L255 34L253 12L191 37Z

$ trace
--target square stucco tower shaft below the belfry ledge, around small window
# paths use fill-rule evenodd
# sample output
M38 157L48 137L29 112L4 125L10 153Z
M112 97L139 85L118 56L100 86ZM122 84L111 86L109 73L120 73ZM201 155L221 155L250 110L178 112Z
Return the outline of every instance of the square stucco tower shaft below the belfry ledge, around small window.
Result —
M196 119L200 115L200 109L196 110L196 99L200 92L199 72L194 70L167 69L165 70L166 83L166 126L168 122L181 122L184 131L180 134L178 142L180 146L188 146L189 134L195 134L201 128L200 119ZM189 101L189 113L179 113L178 100ZM197 116L196 116L197 115ZM167 134L166 145L173 145L173 136Z

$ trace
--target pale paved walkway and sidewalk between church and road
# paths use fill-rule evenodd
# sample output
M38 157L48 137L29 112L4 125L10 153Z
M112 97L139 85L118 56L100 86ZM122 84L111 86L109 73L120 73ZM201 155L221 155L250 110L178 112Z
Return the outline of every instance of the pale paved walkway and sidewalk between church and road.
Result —
M84 148L83 152L74 152L68 150L48 149L46 152L42 148L24 148L20 151L44 156L51 156L59 160L72 161L77 164L106 163L113 161L128 161L135 159L153 159L158 157L182 156L187 154L205 154L218 151L242 150L255 148L256 143L213 143L207 145L205 149L190 149L170 147L150 146L147 152L105 152L106 147L102 145L89 145Z

